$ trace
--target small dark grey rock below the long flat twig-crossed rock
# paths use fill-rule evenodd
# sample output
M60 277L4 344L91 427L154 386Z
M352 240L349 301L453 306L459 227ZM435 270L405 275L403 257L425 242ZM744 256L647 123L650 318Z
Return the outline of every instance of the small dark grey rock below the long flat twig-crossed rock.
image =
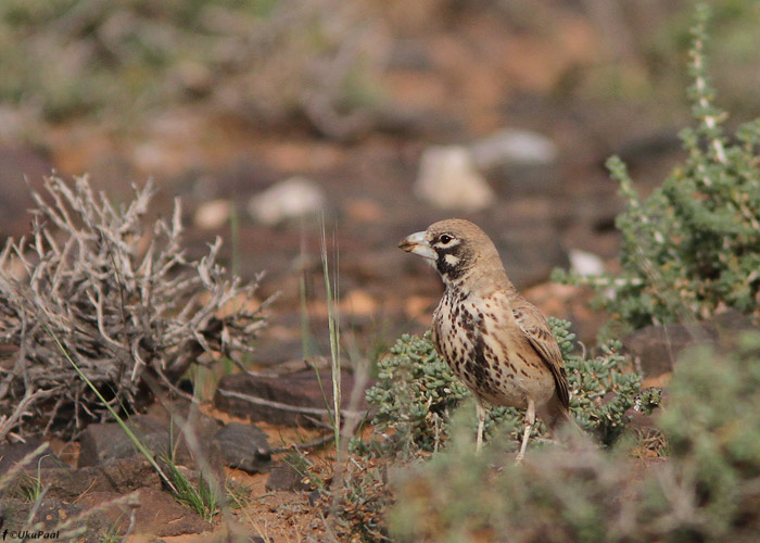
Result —
M254 425L230 422L214 440L219 443L227 466L249 473L263 473L271 467L271 454L266 434Z

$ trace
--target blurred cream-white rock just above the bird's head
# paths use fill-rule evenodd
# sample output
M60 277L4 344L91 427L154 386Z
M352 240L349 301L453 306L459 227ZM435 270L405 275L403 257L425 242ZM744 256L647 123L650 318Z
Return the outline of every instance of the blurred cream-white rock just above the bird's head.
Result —
M494 192L460 146L430 147L420 159L415 194L442 210L474 212L493 203Z

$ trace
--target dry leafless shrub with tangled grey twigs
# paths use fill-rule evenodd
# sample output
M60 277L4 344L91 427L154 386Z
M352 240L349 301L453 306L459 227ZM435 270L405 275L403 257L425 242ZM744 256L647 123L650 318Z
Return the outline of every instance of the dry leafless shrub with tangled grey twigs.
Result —
M228 277L219 239L189 260L178 201L170 222L148 225L150 184L121 206L86 178L51 177L45 188L47 199L33 192L30 237L0 253L0 340L18 349L3 363L0 438L40 429L68 438L109 417L72 363L116 412L134 412L151 388L181 393L191 364L253 350L265 325L258 278Z

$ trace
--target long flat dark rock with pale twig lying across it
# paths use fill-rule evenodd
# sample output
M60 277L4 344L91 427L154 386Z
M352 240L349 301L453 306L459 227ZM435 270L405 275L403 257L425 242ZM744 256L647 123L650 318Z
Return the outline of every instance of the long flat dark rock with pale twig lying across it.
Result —
M314 370L277 377L224 376L214 405L236 417L271 424L314 426L314 419L327 422L326 405L332 405L332 378L330 371L320 371L319 377L321 388ZM353 376L343 374L341 382L343 391L353 390ZM347 408L350 396L343 393L343 408ZM367 408L364 400L358 408Z

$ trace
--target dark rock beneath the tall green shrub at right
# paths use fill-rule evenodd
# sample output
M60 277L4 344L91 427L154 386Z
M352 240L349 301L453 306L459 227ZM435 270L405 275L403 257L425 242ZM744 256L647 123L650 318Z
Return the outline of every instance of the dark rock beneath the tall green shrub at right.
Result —
M731 342L744 330L757 328L745 315L729 311L704 323L647 326L623 338L623 349L637 362L645 378L657 377L673 370L684 349Z

